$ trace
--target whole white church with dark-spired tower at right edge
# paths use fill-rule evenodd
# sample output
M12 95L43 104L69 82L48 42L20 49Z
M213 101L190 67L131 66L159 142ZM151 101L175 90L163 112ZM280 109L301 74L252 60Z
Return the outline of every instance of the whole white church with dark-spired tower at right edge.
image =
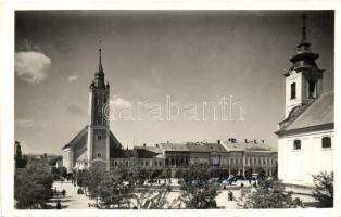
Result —
M279 123L278 177L312 186L312 175L333 170L333 92L323 91L324 69L311 50L303 16L302 39L286 77L286 119Z

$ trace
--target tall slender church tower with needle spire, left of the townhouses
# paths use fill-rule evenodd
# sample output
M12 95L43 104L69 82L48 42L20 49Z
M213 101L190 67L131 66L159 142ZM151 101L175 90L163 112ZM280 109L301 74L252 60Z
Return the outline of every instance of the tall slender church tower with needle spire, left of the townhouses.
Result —
M87 156L89 166L102 164L110 169L110 124L104 115L104 108L109 103L110 87L104 82L102 66L102 49L99 48L99 65L94 73L94 79L89 87L89 127Z

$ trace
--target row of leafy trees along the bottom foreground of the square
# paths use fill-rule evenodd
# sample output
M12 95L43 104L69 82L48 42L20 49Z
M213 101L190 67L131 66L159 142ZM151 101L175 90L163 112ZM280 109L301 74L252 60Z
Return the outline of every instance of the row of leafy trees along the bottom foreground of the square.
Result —
M191 166L182 171L180 194L168 201L169 182L153 186L148 180L169 178L169 170L152 171L119 169L105 171L101 166L74 171L79 187L96 199L98 208L217 208L216 197L220 188L210 182L212 173L203 165ZM313 177L314 196L320 207L332 207L333 174L321 173ZM14 199L16 208L47 208L51 197L53 177L48 164L34 162L26 168L15 170ZM160 182L159 182L160 183ZM240 208L290 208L302 207L302 202L293 199L292 192L285 191L282 182L276 178L258 181L257 188L239 199Z

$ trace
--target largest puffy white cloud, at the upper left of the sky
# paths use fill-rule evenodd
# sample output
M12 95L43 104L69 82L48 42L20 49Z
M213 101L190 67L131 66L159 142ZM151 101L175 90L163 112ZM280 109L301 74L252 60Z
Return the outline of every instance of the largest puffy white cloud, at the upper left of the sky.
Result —
M50 68L51 59L43 53L35 51L15 53L15 73L29 84L43 81Z

